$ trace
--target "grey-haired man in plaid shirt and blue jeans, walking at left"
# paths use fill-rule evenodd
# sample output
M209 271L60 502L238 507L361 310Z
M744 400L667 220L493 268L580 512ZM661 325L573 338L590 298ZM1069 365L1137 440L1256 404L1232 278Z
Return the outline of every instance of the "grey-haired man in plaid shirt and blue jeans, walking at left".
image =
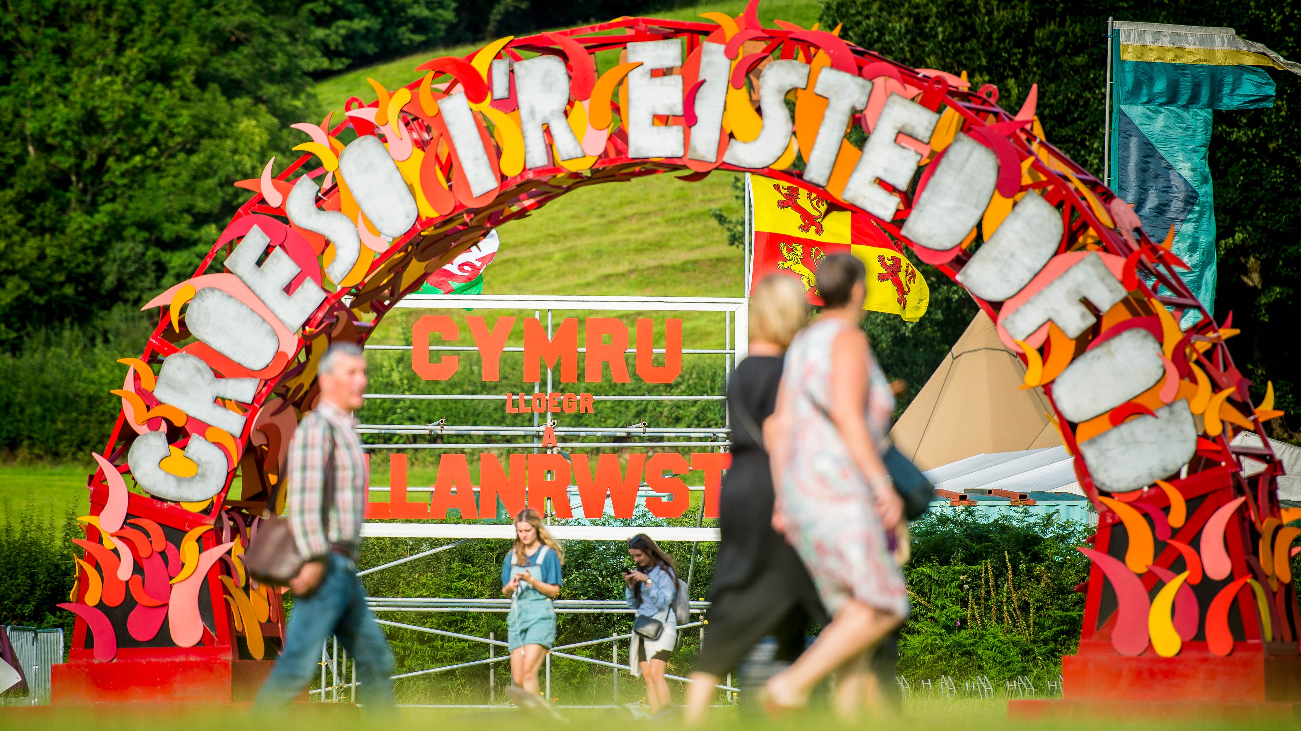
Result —
M334 343L320 363L320 401L303 416L289 444L285 475L289 523L298 552L307 557L289 583L294 609L285 649L258 695L255 710L285 708L317 672L321 644L330 635L356 662L368 711L390 713L393 653L356 579L356 544L366 507L367 473L362 440L353 412L366 393L366 358L355 343ZM334 498L321 523L327 463L333 459Z

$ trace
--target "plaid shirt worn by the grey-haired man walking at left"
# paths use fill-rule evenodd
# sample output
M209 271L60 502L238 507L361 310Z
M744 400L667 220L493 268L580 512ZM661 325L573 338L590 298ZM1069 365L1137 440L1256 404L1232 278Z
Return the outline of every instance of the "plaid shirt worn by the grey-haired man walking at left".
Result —
M321 501L325 498L327 438L334 440L334 505L329 510L329 535L321 525ZM316 410L303 416L289 442L289 480L286 502L289 524L294 531L298 552L311 559L330 552L330 544L345 544L355 550L362 533L366 510L367 470L356 420L321 401Z

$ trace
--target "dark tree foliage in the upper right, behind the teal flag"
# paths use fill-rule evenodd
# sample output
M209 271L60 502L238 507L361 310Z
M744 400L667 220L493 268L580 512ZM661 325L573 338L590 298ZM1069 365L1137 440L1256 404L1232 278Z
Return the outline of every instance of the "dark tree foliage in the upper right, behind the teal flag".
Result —
M1285 59L1301 57L1301 7L1262 0L1207 3L1081 0L827 0L822 25L915 68L971 74L993 83L999 105L1017 109L1039 85L1038 116L1050 142L1101 174L1106 20L1228 26ZM1301 273L1298 151L1301 78L1270 69L1278 99L1270 109L1215 114L1210 165L1215 181L1219 289L1215 317L1233 312L1241 334L1229 349L1265 395L1274 382L1274 436L1301 431L1301 373L1291 337ZM1159 235L1157 238L1160 238ZM928 280L929 281L929 280ZM951 341L950 341L951 342Z

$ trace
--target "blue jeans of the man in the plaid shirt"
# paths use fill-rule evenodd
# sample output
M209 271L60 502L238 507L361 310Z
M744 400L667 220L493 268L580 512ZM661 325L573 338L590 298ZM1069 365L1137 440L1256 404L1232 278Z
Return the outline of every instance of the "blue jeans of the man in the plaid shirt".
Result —
M356 566L332 553L325 578L308 597L294 597L285 650L258 693L254 713L284 709L316 676L321 645L334 635L356 662L358 691L368 710L393 711L393 653L366 606Z

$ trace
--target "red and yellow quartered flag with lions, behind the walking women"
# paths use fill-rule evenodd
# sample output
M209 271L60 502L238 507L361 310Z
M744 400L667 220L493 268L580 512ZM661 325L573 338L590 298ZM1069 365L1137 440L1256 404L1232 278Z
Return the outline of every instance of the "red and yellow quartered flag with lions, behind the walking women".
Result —
M926 313L930 287L890 237L868 216L853 215L785 181L751 176L755 263L751 291L771 273L799 277L812 304L822 304L817 268L825 256L853 254L868 268L864 310L913 323Z

